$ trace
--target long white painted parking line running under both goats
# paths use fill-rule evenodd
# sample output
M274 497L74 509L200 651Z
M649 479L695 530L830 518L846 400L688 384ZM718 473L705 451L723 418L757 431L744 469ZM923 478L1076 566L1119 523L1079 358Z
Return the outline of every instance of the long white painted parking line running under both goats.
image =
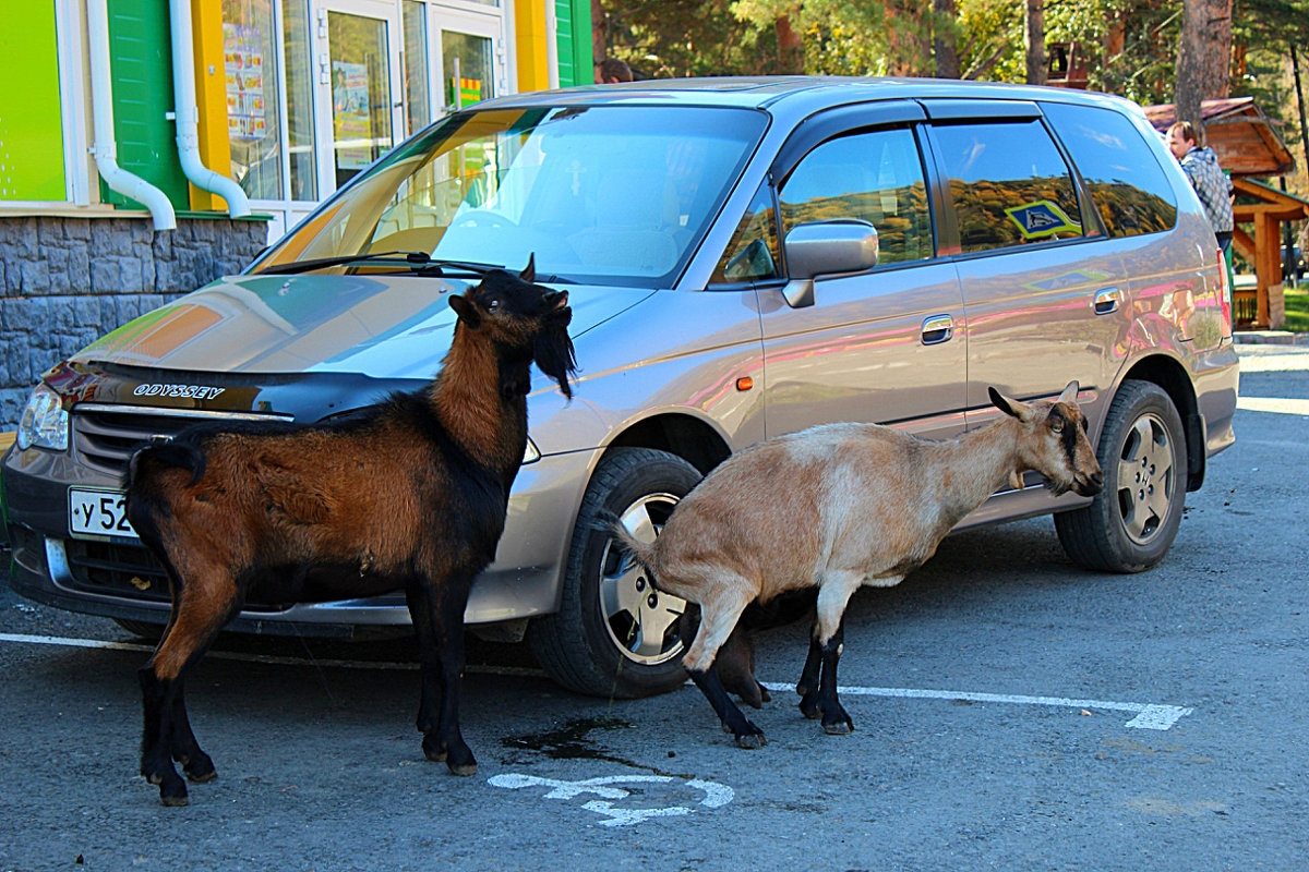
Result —
M101 639L77 639L58 635L24 635L20 633L0 633L0 642L18 645L55 645L75 648L101 648L107 651L135 651L152 654L154 647L137 642L103 642ZM241 654L238 651L209 651L207 658L216 660L237 660L242 663L267 663L274 665L335 667L340 669L418 669L416 663L389 663L369 660L315 660L309 658L271 656L266 654ZM479 667L467 669L474 675L501 675L547 677L541 669L522 667ZM763 682L768 690L791 690L795 685ZM915 690L910 688L847 688L838 689L850 697L899 697L905 699L965 699L969 702L1003 702L1021 706L1055 706L1063 709L1100 709L1103 711L1131 711L1135 716L1124 727L1134 729L1170 729L1179 719L1192 714L1195 709L1165 706L1151 702L1111 702L1105 699L1069 699L1064 697L1025 697L1003 693L971 693L966 690Z

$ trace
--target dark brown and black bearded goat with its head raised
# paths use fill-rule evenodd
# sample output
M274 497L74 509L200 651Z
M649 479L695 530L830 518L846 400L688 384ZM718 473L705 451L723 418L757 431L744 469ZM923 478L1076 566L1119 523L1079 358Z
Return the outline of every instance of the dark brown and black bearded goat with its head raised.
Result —
M339 422L194 428L132 456L128 519L168 570L173 611L141 668L141 774L165 805L215 777L186 716L187 671L247 599L403 590L421 660L429 760L476 771L459 735L463 611L495 557L528 439L533 361L572 396L568 294L493 271L450 298L441 371Z

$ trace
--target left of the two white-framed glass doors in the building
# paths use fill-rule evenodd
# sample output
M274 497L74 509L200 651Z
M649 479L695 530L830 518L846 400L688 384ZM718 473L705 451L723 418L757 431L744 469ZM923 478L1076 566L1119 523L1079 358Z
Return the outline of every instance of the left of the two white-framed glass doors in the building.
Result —
M325 0L317 14L321 174L332 191L397 141L401 27L393 0Z

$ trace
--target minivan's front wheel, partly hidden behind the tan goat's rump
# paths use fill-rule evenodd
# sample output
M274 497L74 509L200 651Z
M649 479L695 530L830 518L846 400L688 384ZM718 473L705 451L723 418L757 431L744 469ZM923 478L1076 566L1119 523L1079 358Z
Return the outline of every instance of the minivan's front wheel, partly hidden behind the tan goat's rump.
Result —
M657 535L700 477L682 458L654 448L615 448L600 461L577 512L559 612L528 628L537 660L555 681L609 698L686 682L678 633L686 603L652 588L606 527L623 518L637 524L637 536L641 528Z

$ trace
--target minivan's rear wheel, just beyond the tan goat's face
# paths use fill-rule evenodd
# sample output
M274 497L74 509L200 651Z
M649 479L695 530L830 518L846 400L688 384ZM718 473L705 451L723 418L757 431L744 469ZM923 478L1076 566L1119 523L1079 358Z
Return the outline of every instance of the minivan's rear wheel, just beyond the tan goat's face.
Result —
M1168 394L1152 382L1123 382L1097 456L1105 489L1085 509L1055 515L1059 543L1088 569L1151 569L1173 544L1186 502L1186 431Z

